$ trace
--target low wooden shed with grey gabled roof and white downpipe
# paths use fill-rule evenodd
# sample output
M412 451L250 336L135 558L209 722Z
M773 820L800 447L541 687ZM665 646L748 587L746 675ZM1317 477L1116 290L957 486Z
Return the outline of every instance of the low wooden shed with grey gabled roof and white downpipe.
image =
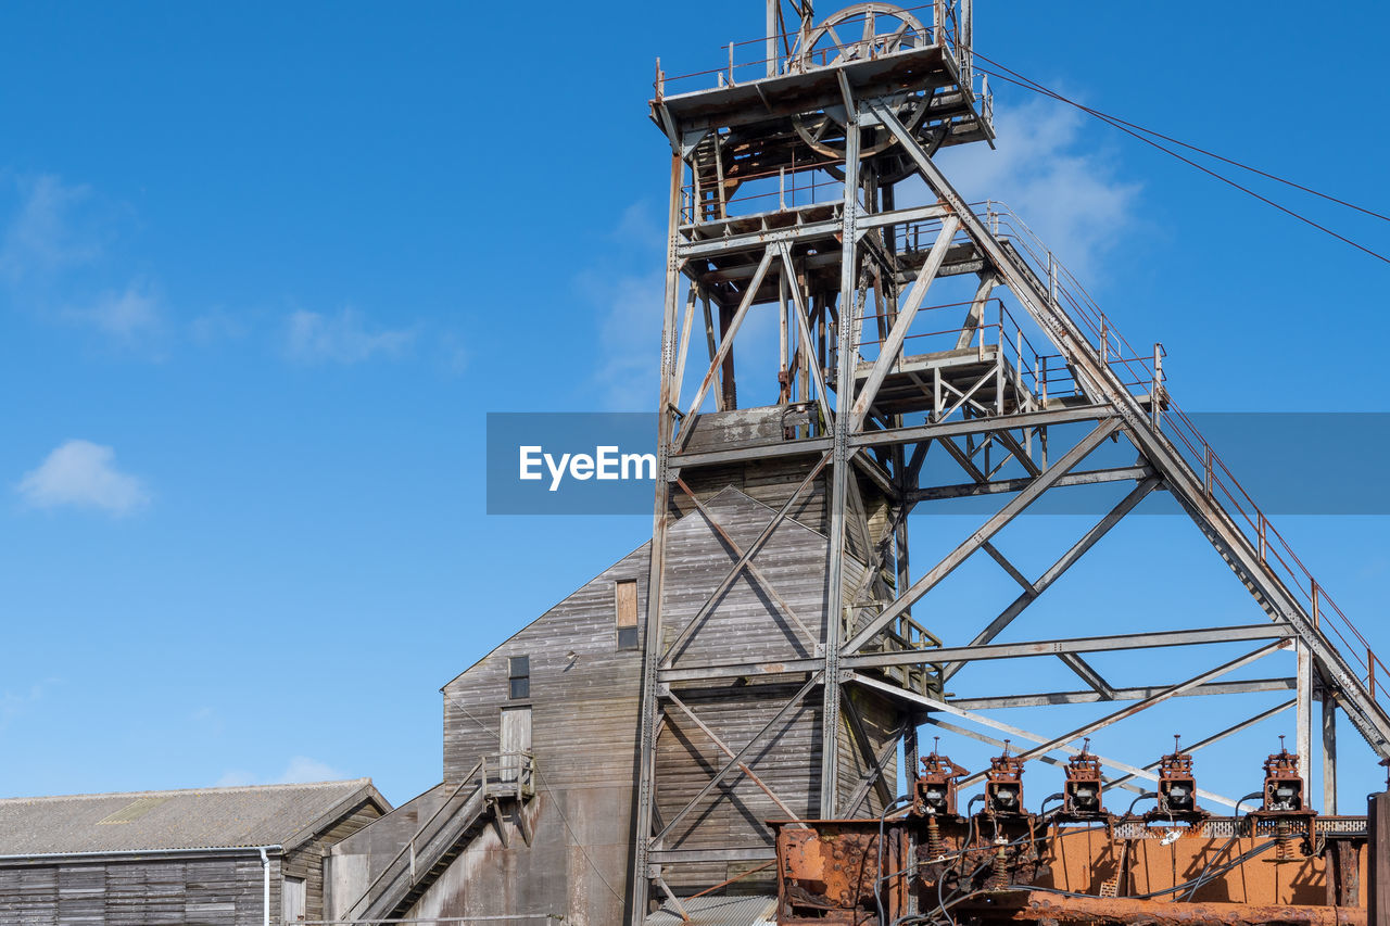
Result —
M370 779L0 799L0 922L267 926L324 913Z

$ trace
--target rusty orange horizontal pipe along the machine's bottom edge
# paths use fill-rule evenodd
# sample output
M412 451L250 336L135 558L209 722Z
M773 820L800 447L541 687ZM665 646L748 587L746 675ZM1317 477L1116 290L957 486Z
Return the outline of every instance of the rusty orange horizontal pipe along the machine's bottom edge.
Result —
M992 902L991 922L1134 923L1134 926L1364 926L1366 911L1346 907L1175 904L1127 897L1069 897L1047 891Z

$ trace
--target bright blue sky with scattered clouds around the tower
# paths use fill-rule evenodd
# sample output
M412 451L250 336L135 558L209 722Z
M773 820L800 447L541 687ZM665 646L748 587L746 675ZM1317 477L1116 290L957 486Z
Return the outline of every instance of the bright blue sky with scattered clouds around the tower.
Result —
M751 0L701 10L6 7L0 794L363 774L399 802L438 781L439 685L649 534L485 516L484 414L653 405L653 58L717 67L762 29ZM986 0L976 35L1098 108L1384 209L1387 26L1371 3ZM1384 264L995 95L999 150L948 172L1015 206L1131 342L1163 341L1184 406L1390 410ZM1200 544L1175 521L1125 542ZM1282 526L1390 649L1386 519ZM1133 548L1112 549L1113 601L1230 581L1186 560L1122 581ZM1354 774L1348 794L1375 784Z

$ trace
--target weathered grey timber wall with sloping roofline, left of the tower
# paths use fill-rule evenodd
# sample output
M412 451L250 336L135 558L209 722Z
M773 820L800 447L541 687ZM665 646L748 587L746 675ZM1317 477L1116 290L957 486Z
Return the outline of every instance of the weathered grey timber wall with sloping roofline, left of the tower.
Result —
M632 844L632 783L642 649L620 649L619 583L646 605L648 545L605 570L443 688L445 787L500 748L502 710L531 708L534 838L516 820L502 845L485 829L430 887L411 918L566 915L575 926L623 920ZM509 698L507 663L530 658L530 697ZM388 818L389 819L389 818Z

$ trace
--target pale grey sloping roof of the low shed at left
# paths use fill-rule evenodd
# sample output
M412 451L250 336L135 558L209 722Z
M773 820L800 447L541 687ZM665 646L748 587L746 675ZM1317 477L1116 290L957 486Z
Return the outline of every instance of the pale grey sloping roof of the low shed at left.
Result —
M364 798L371 779L0 799L0 855L284 845Z

